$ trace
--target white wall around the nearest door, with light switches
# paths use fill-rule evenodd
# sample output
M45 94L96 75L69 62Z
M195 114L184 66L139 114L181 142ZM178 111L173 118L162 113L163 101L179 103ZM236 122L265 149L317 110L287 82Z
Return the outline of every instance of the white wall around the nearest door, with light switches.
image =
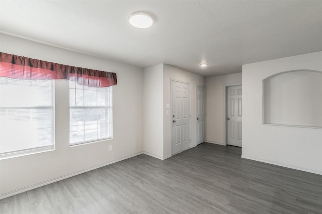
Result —
M196 114L196 93L197 93L197 85L205 86L205 78L187 72L185 70L173 67L171 65L164 65L164 98L163 98L163 115L164 115L164 151L163 157L168 158L172 154L172 106L170 109L166 108L166 104L171 104L171 79L181 80L184 82L189 82L191 85L191 143L190 147L194 147L197 145L197 114ZM169 110L169 115L166 114L167 110Z

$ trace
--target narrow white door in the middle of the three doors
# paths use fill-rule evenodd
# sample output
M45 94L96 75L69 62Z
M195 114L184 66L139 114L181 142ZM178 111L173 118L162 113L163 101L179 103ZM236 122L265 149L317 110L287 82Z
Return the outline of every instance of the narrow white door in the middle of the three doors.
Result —
M205 88L197 86L197 145L205 142Z

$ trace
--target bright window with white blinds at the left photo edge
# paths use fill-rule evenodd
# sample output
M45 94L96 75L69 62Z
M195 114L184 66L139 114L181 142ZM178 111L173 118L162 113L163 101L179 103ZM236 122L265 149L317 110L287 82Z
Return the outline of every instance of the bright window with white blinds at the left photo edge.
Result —
M54 81L0 77L0 158L54 148Z

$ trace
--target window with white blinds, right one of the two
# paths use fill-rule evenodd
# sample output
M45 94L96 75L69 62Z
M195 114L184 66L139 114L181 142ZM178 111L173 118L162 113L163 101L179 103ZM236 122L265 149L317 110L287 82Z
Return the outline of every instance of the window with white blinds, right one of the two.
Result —
M112 87L69 81L69 144L112 138Z

